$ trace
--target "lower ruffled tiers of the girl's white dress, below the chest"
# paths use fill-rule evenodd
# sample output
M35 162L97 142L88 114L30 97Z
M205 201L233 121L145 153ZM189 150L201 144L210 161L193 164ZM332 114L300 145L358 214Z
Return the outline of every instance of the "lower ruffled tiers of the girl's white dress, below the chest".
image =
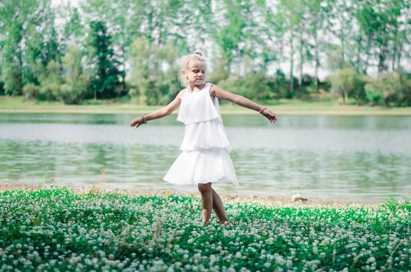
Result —
M218 119L186 125L180 147L182 153L163 180L177 186L197 186L208 182L238 185L223 123Z

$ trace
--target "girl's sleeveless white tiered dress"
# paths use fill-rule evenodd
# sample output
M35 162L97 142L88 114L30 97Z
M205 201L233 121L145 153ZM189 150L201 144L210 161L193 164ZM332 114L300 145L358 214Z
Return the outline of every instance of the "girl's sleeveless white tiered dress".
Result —
M177 121L186 125L180 149L182 153L171 165L163 180L179 186L196 186L229 182L237 186L238 180L229 153L229 144L219 99L210 97L210 83L198 92L186 89L180 104Z

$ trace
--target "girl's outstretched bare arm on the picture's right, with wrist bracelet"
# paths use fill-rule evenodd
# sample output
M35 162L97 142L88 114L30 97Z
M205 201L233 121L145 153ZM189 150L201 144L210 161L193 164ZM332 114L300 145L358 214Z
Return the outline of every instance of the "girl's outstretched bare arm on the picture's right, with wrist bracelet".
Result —
M265 108L263 106L258 105L258 103L254 103L246 97L242 97L241 95L235 95L234 93L227 92L214 84L211 86L210 93L211 95L214 95L214 97L219 97L219 99L231 101L244 108L256 110L256 112L260 112L262 109ZM271 112L271 110L268 110L267 108L265 108L265 110L263 110L261 114L264 115L266 119L269 119L270 123L275 123L277 121L277 116L275 116L275 113Z

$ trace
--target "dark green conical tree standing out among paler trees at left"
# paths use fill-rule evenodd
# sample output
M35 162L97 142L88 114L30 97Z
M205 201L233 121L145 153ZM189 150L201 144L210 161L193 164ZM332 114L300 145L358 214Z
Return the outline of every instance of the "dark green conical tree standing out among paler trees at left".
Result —
M111 98L115 96L114 86L119 84L119 60L114 53L107 27L102 21L90 23L88 36L90 46L89 63L92 65L92 90L94 98Z

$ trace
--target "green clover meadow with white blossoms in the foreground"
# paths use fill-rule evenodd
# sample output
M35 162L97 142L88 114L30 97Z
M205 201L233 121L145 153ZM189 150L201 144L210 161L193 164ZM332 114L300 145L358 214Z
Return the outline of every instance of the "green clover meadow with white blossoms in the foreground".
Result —
M201 199L93 187L0 193L0 269L16 271L410 271L411 204Z

